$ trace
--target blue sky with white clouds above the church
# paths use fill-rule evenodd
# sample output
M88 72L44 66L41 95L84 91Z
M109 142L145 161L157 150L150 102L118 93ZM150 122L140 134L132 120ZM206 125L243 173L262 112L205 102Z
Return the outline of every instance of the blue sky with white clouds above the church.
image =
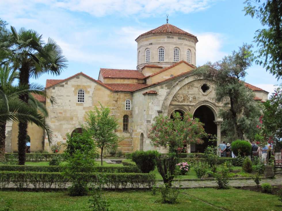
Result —
M216 62L253 44L259 20L245 16L241 0L0 0L0 18L20 29L36 30L43 40L54 39L68 59L60 76L31 79L65 79L83 72L98 79L100 68L136 69L137 43L142 33L169 23L197 36L197 66ZM245 81L268 92L280 84L253 64Z

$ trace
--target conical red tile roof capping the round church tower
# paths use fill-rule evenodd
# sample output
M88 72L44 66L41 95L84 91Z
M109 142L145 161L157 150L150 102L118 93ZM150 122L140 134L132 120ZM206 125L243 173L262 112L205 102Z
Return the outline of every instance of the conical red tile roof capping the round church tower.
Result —
M193 34L190 34L188 32L183 31L182 29L172 25L172 24L163 24L161 26L159 26L158 28L152 29L148 32L145 32L143 34L140 34L135 41L143 35L147 35L147 34L163 34L163 33L173 33L173 34L184 34L184 35L188 35L188 36L192 36L195 37L197 39L197 37ZM198 39L197 39L198 41Z

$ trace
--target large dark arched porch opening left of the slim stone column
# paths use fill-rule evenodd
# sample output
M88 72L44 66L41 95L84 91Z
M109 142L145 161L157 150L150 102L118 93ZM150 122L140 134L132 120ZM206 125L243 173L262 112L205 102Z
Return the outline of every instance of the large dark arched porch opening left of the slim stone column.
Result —
M205 124L204 129L206 133L216 135L217 127L216 127L216 124L214 123L214 120L215 120L214 113L212 112L212 110L209 107L205 105L200 106L194 112L193 117L199 118L200 121ZM208 139L209 139L208 137L204 138L203 144L196 144L194 146L191 145L191 152L203 153L207 146L212 146L212 145L216 146L216 143L209 142Z

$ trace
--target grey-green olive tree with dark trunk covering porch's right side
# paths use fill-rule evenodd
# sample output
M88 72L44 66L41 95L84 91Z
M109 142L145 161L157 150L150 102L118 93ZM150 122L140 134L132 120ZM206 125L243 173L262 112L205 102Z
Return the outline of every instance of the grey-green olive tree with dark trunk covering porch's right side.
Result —
M254 58L251 47L243 44L239 51L233 51L222 61L208 63L196 72L214 81L217 102L227 100L224 105L230 106L230 109L221 109L220 116L224 119L222 133L231 140L244 139L244 134L253 139L257 132L255 125L260 115L259 104L254 101L254 93L243 82Z

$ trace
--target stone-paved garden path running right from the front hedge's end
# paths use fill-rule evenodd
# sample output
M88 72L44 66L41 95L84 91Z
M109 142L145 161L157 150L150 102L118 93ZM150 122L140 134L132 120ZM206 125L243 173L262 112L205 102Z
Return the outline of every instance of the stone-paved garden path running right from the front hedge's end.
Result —
M282 185L282 175L275 175L275 179L262 179L260 184L269 183L270 185ZM178 186L179 181L176 181ZM157 187L163 185L163 182L157 182ZM217 183L213 181L181 181L182 188L196 188L196 187L216 187ZM229 185L232 187L243 187L243 186L255 186L254 180L243 179L243 180L229 180Z

